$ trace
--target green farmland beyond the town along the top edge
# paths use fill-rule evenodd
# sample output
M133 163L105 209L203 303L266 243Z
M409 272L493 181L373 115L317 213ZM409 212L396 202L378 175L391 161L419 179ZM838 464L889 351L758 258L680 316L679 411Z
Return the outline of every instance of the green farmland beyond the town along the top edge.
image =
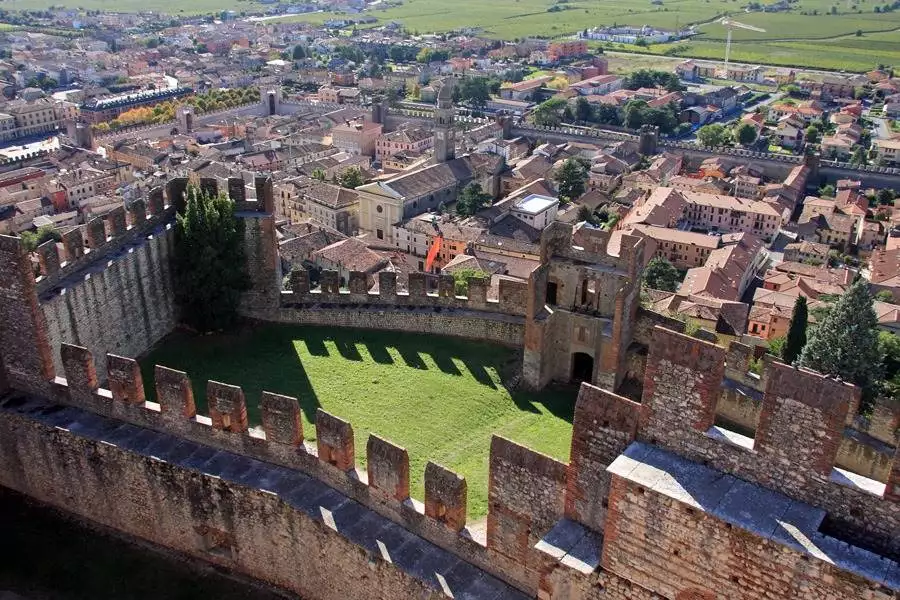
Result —
M763 4L771 3L764 0ZM109 11L155 10L169 13L208 13L225 9L261 11L266 5L249 0L198 0L178 5L171 0L0 0L6 9L80 6ZM743 11L737 0L394 0L367 11L379 23L397 21L409 31L446 32L477 27L482 35L507 40L531 36L562 38L588 27L652 25L666 29L695 25L699 34L682 42L614 50L633 50L673 56L721 59L725 29L718 23L730 15L764 33L736 29L732 57L736 61L866 71L876 64L900 65L900 11L875 13L876 0L800 0L790 12ZM562 10L548 12L548 8ZM830 14L832 8L837 14ZM805 13L805 14L804 14ZM284 17L288 22L321 24L352 14L318 12ZM367 25L368 27L375 25ZM856 33L861 36L857 37Z

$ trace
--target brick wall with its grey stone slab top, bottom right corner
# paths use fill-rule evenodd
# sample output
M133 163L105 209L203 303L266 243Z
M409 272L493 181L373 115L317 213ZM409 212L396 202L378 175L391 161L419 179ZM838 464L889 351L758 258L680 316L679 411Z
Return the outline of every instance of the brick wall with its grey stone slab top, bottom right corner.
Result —
M653 458L633 450L610 469L604 569L675 600L894 597L830 564L841 561L840 544L810 533L822 511L699 465L686 471L687 461L658 450L648 453ZM803 544L830 560L810 561ZM885 576L893 565L877 558L871 568L894 577Z

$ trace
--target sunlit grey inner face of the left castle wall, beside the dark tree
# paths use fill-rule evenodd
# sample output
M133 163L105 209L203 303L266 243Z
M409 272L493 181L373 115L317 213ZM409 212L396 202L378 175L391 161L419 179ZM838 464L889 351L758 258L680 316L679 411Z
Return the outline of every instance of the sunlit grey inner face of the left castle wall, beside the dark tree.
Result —
M170 257L174 231L160 228L119 250L109 263L79 271L41 298L57 372L62 343L89 348L106 372L106 354L140 356L177 323Z

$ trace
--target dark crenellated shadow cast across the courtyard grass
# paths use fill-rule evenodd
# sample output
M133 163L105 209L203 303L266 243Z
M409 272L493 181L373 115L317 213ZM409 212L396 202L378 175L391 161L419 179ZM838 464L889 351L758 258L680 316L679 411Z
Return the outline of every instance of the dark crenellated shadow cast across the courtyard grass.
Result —
M337 352L330 352L329 345ZM342 360L405 365L425 371L430 367L421 354L427 354L441 372L462 377L464 373L457 366L462 363L478 383L496 390L498 382L492 372L506 381L520 368L517 351L495 344L375 330L262 325L236 334L172 334L141 361L146 396L155 400L153 365L161 364L191 376L194 399L202 414L208 412L206 380L213 379L243 388L251 425L260 422L259 398L263 391L297 397L306 419L315 422L321 404L298 352L303 346L312 356L334 359L336 378L342 376ZM394 360L392 351L403 364ZM544 407L572 422L577 388L552 387L541 392L513 389L509 393L520 410L539 413Z

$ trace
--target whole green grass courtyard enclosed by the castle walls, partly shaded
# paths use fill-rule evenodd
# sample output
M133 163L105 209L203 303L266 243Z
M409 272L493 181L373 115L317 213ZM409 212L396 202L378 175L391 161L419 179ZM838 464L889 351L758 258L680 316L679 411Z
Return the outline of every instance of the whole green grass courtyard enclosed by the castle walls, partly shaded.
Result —
M533 394L503 385L519 351L433 335L325 327L266 325L233 335L176 333L141 367L154 398L153 365L187 371L199 412L206 381L240 385L251 426L259 424L263 390L296 396L304 437L315 440L316 409L353 424L357 465L377 433L409 452L411 493L424 499L425 463L464 475L471 519L487 514L492 433L566 461L575 388Z

